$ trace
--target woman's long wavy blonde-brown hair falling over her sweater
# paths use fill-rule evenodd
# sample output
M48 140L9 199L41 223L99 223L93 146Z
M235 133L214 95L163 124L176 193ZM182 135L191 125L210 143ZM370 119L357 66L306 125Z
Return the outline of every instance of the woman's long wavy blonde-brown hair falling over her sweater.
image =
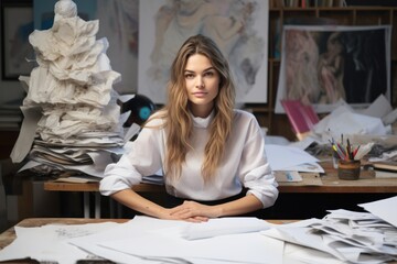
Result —
M190 56L201 54L206 56L219 74L219 91L214 99L214 120L210 124L210 138L205 145L205 157L202 165L202 176L208 183L215 175L222 161L225 144L232 130L233 109L235 103L235 85L229 66L217 47L208 37L191 36L181 46L171 67L171 78L168 84L168 103L160 111L165 120L167 156L164 169L171 179L178 179L190 144L193 122L189 111L189 98L185 87L184 70Z

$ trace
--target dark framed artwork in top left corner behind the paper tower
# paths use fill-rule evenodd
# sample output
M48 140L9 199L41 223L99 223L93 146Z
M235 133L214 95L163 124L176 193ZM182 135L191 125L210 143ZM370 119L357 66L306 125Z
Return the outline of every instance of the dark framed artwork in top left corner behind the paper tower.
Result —
M18 80L35 66L29 35L33 31L32 0L1 0L2 79Z

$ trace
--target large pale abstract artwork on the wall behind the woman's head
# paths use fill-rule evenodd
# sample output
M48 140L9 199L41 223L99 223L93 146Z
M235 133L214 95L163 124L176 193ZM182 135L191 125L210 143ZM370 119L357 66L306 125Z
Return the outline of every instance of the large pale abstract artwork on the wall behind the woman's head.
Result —
M139 13L139 94L163 103L178 50L201 33L228 59L237 101L267 102L268 0L147 0Z

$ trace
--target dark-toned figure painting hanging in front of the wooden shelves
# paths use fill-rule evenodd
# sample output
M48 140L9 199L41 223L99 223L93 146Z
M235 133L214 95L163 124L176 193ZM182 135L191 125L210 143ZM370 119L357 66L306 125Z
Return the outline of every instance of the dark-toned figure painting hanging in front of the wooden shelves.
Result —
M300 100L316 112L339 103L369 106L378 96L390 100L389 25L286 25L277 89L281 100Z

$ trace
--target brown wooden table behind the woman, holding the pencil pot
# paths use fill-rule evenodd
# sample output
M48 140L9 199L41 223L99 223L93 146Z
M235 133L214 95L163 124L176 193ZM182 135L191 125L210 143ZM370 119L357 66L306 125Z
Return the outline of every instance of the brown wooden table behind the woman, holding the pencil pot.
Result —
M322 163L325 174L318 175L321 185L313 185L305 180L309 174L302 174L303 182L279 183L281 194L397 194L396 178L375 178L372 170L362 170L357 180L343 180L337 178L337 170L331 163ZM313 177L313 174L310 174ZM84 217L89 218L90 202L89 193L95 194L95 218L100 218L100 194L98 193L99 183L73 184L47 180L44 183L44 190L51 191L83 191L84 193ZM140 184L133 186L138 193L165 191L162 185ZM112 204L111 204L112 205ZM112 210L112 209L111 209Z

